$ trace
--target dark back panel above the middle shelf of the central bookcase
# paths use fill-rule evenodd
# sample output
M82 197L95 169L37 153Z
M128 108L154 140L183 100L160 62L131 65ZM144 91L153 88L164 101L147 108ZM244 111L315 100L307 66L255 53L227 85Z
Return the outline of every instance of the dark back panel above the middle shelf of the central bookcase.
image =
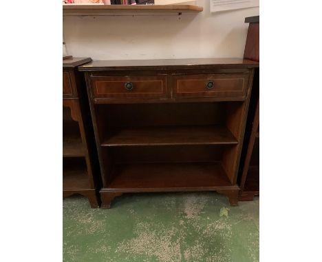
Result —
M96 105L104 126L199 126L224 123L224 102Z

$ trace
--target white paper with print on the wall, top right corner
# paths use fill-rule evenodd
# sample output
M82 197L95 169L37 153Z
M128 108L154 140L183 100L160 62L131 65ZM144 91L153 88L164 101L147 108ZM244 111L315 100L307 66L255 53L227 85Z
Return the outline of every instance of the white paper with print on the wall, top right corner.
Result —
M259 6L259 0L210 0L211 12L253 8Z

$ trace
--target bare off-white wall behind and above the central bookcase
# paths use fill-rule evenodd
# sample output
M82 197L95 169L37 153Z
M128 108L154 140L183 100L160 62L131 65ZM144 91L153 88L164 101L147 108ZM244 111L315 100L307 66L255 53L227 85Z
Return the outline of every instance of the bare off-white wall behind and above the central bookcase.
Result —
M65 16L67 53L93 60L153 58L242 58L247 16L259 8L198 14L150 16Z

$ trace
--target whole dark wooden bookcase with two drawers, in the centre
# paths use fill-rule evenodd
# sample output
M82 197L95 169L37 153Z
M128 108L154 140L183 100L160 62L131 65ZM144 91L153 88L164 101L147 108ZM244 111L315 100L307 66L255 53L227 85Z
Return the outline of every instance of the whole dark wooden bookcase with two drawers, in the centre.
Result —
M122 193L218 191L236 205L257 62L96 61L85 71L103 187Z

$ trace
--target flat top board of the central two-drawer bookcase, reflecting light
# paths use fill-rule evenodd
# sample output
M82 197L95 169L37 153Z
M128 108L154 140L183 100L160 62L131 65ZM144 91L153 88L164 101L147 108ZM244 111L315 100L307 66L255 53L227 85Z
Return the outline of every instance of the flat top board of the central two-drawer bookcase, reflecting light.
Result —
M80 71L94 71L115 68L153 67L259 67L259 62L242 58L187 58L153 60L97 60L78 67Z

